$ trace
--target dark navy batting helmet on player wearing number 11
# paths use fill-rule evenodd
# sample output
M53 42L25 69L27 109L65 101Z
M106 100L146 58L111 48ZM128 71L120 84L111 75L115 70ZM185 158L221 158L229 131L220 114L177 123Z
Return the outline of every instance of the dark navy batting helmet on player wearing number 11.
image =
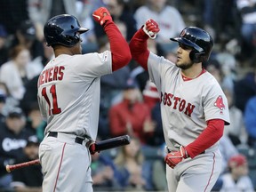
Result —
M44 25L44 37L48 46L62 44L72 47L80 41L80 36L88 31L88 28L81 28L78 20L73 15L60 14L52 17Z

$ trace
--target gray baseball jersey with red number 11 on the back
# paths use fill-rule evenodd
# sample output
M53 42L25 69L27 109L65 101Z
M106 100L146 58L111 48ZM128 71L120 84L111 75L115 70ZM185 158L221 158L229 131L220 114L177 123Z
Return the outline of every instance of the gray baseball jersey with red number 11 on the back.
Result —
M51 60L38 79L38 102L47 119L46 132L67 132L96 140L100 76L112 73L111 52Z

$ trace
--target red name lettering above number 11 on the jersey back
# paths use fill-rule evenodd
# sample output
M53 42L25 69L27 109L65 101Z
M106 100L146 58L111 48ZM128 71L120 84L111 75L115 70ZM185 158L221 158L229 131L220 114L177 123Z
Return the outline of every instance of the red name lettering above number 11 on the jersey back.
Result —
M65 69L64 66L56 66L53 68L47 68L45 69L41 75L39 76L39 84L44 84L52 81L61 81L63 79L63 70Z

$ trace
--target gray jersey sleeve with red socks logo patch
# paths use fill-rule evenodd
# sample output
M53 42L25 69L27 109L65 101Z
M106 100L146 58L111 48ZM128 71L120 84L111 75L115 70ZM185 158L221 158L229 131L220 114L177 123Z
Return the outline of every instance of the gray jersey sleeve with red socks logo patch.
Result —
M205 84L203 93L203 105L205 120L222 119L225 124L230 124L228 112L228 100L222 91L220 84L213 77Z

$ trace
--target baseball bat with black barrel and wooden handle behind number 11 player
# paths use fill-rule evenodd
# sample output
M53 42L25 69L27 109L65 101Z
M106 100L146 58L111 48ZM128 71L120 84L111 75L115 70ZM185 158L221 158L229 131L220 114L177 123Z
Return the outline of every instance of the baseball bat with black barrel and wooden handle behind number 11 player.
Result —
M130 136L129 135L122 135L115 138L110 138L108 140L100 140L95 142L95 151L100 152L102 150L107 150L109 148L117 148L120 146L130 144ZM40 164L39 159L20 163L20 164L7 164L5 166L6 172L12 172L15 169L20 169L23 167L27 167L33 164Z

